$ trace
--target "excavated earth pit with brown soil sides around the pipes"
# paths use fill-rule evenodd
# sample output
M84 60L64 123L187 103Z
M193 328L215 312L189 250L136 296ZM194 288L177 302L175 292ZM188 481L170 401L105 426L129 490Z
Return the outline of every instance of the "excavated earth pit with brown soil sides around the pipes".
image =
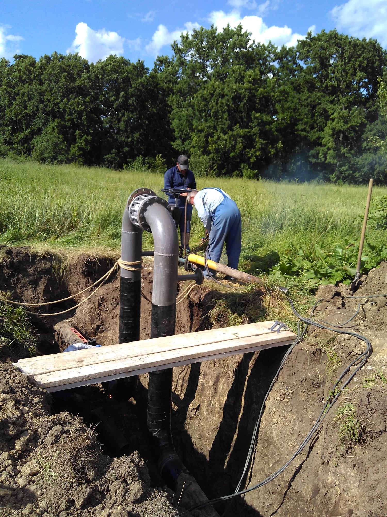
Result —
M88 287L112 264L110 258L78 255L60 268L53 255L3 248L0 290L26 303L54 301ZM151 261L142 278L143 292L150 297ZM387 515L387 306L386 298L369 297L386 292L387 263L362 277L355 294L363 299L348 298L351 292L345 285L319 288L316 296L322 301L316 314L333 324L350 318L358 303L364 302L345 328L368 337L373 353L291 465L244 498L215 505L219 515ZM43 306L30 311L60 312L73 307L74 299L48 306L49 310ZM276 295L263 288L240 294L237 303L233 299L234 316L242 323L270 319L267 307L277 302ZM222 308L230 306L229 301L230 296L214 290L213 284L195 287L178 305L176 333L227 326L230 311L222 313ZM51 396L12 366L28 353L60 353L64 344L54 326L65 318L103 346L116 343L119 276L110 277L72 312L30 315L36 352L31 343L22 346L11 336L5 323L12 310L4 303L0 307L0 514L201 515L199 510L189 512L179 506L179 497L165 486L154 466L145 422L147 375L140 376L134 398L117 402L101 385ZM141 339L149 337L150 311L150 303L142 299ZM20 315L14 312L17 319ZM174 444L208 498L234 491L264 395L286 349L174 369ZM295 346L266 401L248 486L292 457L312 428L334 379L363 350L359 339L314 328Z

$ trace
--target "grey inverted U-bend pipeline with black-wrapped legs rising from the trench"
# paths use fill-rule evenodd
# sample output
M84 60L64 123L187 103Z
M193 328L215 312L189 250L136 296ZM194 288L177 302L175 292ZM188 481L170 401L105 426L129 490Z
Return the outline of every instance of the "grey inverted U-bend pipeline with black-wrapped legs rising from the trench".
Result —
M178 277L178 235L168 203L152 190L135 190L127 200L122 217L120 343L139 340L144 230L153 234L154 241L151 338L174 335L177 282L192 279L192 275ZM198 273L200 275L201 271ZM134 394L136 384L136 377L118 379L109 383L108 391L115 399L124 400ZM160 474L180 497L180 505L190 508L208 499L175 451L171 434L171 398L172 369L150 372L147 427L151 448ZM202 510L202 515L217 517L218 513L208 506Z

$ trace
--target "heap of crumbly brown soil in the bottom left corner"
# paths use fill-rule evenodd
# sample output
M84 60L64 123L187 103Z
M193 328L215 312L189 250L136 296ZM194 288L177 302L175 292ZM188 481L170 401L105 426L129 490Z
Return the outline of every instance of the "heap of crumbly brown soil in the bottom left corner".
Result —
M107 457L82 418L50 415L47 392L11 364L0 372L0 514L184 515L137 452Z

